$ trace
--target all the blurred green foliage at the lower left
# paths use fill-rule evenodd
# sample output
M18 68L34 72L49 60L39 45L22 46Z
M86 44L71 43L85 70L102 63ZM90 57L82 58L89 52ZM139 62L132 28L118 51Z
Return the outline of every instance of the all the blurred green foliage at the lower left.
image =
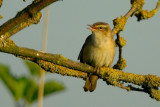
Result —
M31 76L17 77L13 75L8 66L0 64L0 79L3 81L13 99L18 102L25 99L27 104L31 104L38 98L38 83L36 78L39 78L40 67L33 62L24 61L30 71ZM62 91L64 85L55 81L49 80L45 82L44 96Z

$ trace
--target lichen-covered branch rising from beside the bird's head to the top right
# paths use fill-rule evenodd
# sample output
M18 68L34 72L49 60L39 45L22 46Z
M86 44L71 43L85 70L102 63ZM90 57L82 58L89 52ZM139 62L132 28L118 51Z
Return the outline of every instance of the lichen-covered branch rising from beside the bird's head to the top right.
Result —
M131 0L131 9L124 16L121 16L121 19L117 18L113 20L114 28L112 29L112 36L120 31L123 31L128 18L134 13L136 13L135 16L137 17L138 21L153 17L160 7L160 0L157 2L155 9L151 10L150 12L148 12L148 10L143 10L143 5L144 0Z

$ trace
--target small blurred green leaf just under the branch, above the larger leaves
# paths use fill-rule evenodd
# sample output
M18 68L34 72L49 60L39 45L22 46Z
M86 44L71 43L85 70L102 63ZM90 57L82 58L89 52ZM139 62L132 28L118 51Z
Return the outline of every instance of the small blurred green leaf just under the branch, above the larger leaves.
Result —
M37 64L27 60L24 60L24 62L33 76L40 76L41 68Z

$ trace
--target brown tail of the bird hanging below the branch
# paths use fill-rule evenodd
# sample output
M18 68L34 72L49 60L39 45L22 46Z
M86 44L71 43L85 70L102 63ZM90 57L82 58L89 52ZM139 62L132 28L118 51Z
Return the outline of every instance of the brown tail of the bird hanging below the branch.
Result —
M97 85L97 80L98 80L98 76L97 75L89 75L86 78L86 83L84 85L84 91L94 91L96 89L96 85Z

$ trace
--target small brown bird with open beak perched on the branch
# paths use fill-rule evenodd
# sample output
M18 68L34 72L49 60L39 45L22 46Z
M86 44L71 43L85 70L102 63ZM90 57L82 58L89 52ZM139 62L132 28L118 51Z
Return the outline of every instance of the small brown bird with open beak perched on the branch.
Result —
M116 45L111 35L109 24L105 22L96 22L89 26L92 34L87 37L83 44L78 59L80 62L89 64L96 69L111 66L115 56ZM88 74L84 91L94 91L97 80L98 76Z

